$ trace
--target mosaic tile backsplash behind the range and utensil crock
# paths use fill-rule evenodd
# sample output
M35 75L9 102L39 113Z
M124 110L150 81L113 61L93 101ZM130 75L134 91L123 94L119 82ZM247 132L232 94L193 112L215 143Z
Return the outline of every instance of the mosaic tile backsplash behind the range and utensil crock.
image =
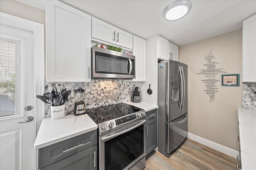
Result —
M128 102L132 97L132 90L135 87L134 82L126 82L124 80L92 80L92 82L45 82L44 92L51 92L52 85L55 85L58 92L62 89L71 90L82 88L85 90L86 109L94 107L106 106L121 102ZM128 89L128 94L125 90ZM72 111L75 106L74 99L65 103L65 113ZM50 116L50 105L45 104L45 116Z

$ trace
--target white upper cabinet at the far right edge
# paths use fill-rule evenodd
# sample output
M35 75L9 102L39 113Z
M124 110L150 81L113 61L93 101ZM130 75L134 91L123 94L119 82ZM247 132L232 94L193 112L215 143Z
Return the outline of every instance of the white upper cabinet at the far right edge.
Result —
M243 82L256 82L256 15L243 22Z

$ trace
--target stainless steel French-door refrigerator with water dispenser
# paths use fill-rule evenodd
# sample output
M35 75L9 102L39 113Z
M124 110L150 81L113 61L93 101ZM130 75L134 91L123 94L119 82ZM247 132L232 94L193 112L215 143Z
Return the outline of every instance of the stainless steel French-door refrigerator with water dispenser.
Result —
M167 157L188 132L188 66L169 60L158 63L158 151Z

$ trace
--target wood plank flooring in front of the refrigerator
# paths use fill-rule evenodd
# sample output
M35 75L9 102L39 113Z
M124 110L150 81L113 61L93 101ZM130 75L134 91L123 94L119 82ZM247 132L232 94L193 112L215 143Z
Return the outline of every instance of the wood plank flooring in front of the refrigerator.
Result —
M170 158L155 151L148 154L144 170L236 170L236 164L236 158L186 139Z

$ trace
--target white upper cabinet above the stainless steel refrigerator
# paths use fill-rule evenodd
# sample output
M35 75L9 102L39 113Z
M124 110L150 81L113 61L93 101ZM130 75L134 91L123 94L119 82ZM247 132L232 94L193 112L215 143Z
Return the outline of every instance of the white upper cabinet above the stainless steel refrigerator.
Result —
M179 47L158 35L158 58L178 61Z

